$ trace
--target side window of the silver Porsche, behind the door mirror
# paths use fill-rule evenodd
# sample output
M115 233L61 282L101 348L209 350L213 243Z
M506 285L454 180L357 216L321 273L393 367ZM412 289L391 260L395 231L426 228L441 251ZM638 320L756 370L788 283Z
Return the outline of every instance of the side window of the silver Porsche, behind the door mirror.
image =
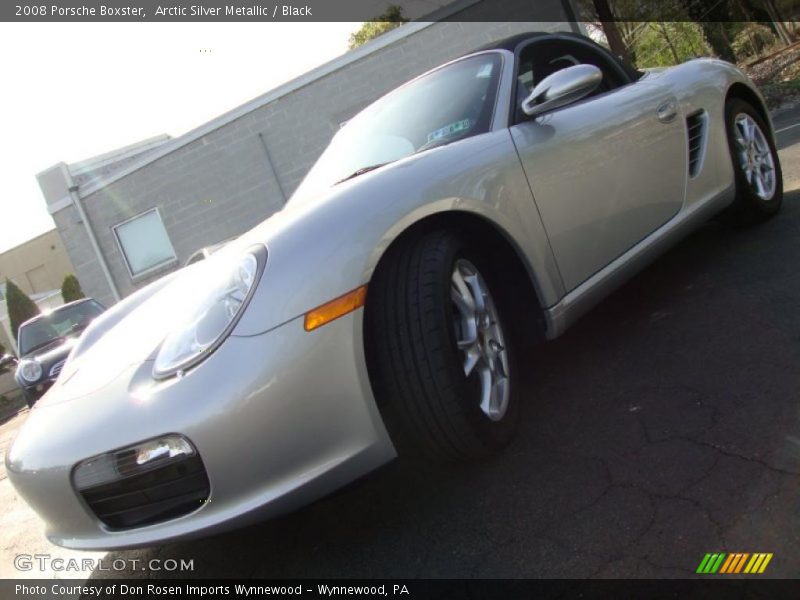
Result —
M603 72L603 81L589 97L605 94L626 85L628 78L613 59L588 44L571 40L533 42L523 49L517 68L517 122L526 117L519 106L537 83L556 71L573 65L594 65Z

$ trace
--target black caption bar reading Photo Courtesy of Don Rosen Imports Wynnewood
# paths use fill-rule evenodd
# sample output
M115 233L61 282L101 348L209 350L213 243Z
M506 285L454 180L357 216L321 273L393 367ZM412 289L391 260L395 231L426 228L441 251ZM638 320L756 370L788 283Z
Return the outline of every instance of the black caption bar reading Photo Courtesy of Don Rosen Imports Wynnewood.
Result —
M0 598L358 598L393 600L529 600L533 598L797 598L794 580L698 576L672 580L0 580Z

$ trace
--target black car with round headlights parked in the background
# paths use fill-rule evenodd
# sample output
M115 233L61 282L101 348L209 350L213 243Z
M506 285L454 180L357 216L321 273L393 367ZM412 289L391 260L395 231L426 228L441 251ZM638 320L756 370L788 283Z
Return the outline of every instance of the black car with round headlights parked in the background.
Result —
M105 307L93 298L76 300L38 315L19 326L19 364L15 378L28 406L58 378L81 333Z

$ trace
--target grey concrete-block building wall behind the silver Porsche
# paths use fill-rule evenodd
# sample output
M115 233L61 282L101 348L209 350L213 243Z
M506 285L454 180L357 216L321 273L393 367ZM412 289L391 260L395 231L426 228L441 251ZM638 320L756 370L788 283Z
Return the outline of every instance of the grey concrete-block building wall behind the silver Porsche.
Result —
M340 124L399 84L509 35L569 29L568 23L552 22L435 23L88 194L83 205L120 295L279 210L284 194L291 195ZM160 210L178 262L133 280L112 228L153 207ZM54 219L87 295L113 303L76 208L66 206Z

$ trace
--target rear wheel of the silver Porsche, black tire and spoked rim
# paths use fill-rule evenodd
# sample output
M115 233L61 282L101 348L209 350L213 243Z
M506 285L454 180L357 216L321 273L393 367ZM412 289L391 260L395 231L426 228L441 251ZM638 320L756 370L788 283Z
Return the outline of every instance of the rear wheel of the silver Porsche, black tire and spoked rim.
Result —
M783 174L770 128L758 111L740 98L726 103L725 124L736 185L728 214L743 225L765 221L783 202ZM755 129L745 133L752 125Z

